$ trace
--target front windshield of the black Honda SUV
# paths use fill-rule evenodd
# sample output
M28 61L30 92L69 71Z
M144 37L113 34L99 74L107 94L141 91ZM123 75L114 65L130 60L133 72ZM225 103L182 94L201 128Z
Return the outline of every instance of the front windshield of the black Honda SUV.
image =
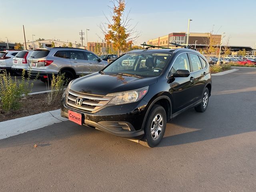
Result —
M171 54L126 54L106 67L105 74L131 74L155 77L161 74Z

